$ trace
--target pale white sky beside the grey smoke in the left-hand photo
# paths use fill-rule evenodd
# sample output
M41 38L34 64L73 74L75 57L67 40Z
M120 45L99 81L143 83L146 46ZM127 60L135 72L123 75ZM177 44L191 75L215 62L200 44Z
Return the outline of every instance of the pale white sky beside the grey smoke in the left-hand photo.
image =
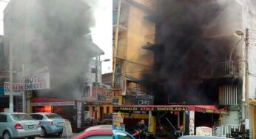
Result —
M10 0L0 0L0 35L4 35L3 12ZM104 51L101 60L110 59L102 62L102 73L112 72L112 1L98 1L93 5L92 11L95 18L95 26L92 31L92 41Z

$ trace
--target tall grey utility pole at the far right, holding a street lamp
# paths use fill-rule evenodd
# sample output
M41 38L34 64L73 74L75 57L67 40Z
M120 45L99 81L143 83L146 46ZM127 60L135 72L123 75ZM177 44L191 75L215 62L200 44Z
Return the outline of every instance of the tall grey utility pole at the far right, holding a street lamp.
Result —
M246 28L246 83L245 83L245 122L246 122L246 132L249 132L249 29ZM248 134L246 134L248 135Z

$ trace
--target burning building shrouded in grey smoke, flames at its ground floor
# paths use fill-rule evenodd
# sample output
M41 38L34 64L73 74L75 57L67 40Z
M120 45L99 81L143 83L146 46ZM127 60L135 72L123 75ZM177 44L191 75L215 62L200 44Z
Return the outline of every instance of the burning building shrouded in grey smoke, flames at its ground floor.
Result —
M4 10L4 54L8 58L10 46L13 48L13 70L17 72L13 82L22 83L22 75L36 75L38 71L50 75L50 89L26 91L27 112L32 112L30 101L41 106L46 103L43 110L47 111L51 110L49 104L71 106L74 112L70 113L74 115L69 119L76 123L76 109L84 108L80 104L84 101L84 79L90 58L102 54L92 43L93 25L90 7L84 1L9 2ZM58 112L54 109L51 112Z

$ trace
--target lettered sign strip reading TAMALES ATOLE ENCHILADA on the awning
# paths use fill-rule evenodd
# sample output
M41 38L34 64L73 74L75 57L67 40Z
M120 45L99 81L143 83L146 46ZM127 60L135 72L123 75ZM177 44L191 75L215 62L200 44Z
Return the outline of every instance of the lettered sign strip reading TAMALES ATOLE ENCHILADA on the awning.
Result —
M187 111L188 107L117 107L118 111Z

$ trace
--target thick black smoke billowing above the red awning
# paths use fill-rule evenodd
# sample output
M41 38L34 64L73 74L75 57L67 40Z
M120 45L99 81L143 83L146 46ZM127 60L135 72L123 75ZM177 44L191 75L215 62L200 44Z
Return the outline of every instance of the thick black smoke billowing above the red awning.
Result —
M144 76L155 104L168 104L167 96L172 104L218 103L218 85L223 81L203 81L199 75L212 64L229 59L235 45L230 35L235 33L232 21L236 19L230 17L236 14L230 13L230 4L228 0L158 1L154 72ZM228 21L226 31L222 26Z

